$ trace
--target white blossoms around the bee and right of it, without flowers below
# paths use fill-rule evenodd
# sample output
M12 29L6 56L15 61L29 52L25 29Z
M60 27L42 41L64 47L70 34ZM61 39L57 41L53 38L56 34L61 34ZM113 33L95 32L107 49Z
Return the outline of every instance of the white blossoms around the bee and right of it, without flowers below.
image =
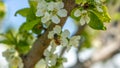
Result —
M51 39L51 43L56 45L67 46L68 50L71 46L77 47L80 41L80 36L73 36L69 38L70 32L68 30L62 31L61 27L56 25L53 31L50 31L48 38Z

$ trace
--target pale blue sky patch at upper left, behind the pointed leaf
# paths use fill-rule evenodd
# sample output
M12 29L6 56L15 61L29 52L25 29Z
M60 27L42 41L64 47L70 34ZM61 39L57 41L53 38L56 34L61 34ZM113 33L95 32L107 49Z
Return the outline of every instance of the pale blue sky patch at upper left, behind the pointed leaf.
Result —
M29 7L27 0L3 0L3 1L6 5L7 13L3 21L1 31L4 32L8 27L18 29L19 26L25 21L25 18L23 18L20 15L14 16L14 14L18 9Z

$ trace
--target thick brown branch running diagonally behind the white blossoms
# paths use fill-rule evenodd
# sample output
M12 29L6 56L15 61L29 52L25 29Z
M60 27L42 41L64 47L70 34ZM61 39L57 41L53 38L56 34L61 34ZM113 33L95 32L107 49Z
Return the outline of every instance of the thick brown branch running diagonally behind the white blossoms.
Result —
M71 10L76 6L75 0L63 0L63 2L65 3L64 8L68 11L69 16ZM60 24L58 25L63 26L67 20L67 17L61 18ZM51 24L46 32L34 42L29 53L23 57L24 68L34 68L35 64L42 58L44 50L48 47L50 43L47 35L54 26L55 24Z

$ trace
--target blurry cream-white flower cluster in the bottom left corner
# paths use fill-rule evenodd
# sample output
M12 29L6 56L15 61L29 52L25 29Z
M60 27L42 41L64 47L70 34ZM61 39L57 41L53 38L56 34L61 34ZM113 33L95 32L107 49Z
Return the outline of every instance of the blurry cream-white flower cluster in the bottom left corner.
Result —
M2 55L8 61L10 68L23 68L22 59L18 56L18 53L14 48L7 49Z

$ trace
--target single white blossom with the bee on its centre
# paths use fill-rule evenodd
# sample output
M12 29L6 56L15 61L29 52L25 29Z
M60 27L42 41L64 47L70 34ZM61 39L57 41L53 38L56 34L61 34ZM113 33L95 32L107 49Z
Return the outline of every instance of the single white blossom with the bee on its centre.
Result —
M56 36L55 36L56 34ZM56 41L63 45L63 46L67 46L68 45L68 37L70 35L70 32L68 30L61 30L60 26L55 26L55 28L53 29L53 31L50 31L48 34L48 38L54 40L54 43L56 43ZM56 39L55 39L56 38ZM53 41L51 41L53 42ZM56 43L56 44L58 44Z

